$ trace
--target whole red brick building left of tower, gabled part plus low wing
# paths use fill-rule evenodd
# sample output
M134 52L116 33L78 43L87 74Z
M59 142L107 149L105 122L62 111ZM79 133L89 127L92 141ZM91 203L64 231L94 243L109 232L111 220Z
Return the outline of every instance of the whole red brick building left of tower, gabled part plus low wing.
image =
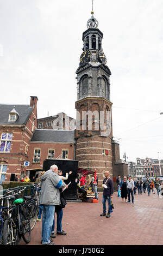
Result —
M74 159L74 130L37 129L37 100L0 104L0 184L11 174L32 178L47 158Z

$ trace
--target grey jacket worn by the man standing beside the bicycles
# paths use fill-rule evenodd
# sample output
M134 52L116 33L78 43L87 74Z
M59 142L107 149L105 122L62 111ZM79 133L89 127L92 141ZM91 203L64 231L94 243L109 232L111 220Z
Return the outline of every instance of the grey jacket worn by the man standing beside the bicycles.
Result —
M41 176L39 205L60 205L59 188L64 188L66 184L62 182L58 174L48 170Z

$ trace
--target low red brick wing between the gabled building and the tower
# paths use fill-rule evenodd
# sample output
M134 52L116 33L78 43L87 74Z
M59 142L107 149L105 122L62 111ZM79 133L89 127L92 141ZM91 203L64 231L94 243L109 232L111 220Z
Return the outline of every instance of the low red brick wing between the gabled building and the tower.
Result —
M36 176L45 159L74 159L74 131L36 129L30 141L27 175Z

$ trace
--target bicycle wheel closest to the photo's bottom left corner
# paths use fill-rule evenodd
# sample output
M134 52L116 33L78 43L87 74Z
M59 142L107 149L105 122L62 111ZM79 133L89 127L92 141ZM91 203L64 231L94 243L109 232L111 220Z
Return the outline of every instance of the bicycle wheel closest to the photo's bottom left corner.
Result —
M13 245L12 227L9 219L5 219L3 226L3 245Z

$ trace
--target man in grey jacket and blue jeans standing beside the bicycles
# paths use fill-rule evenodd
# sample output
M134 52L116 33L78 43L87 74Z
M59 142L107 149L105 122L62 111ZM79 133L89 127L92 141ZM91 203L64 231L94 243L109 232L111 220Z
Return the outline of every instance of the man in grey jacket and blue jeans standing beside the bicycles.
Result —
M41 176L39 205L43 206L42 214L42 245L55 245L50 238L54 220L55 205L60 205L59 188L68 186L58 177L58 166L52 165L51 169Z

